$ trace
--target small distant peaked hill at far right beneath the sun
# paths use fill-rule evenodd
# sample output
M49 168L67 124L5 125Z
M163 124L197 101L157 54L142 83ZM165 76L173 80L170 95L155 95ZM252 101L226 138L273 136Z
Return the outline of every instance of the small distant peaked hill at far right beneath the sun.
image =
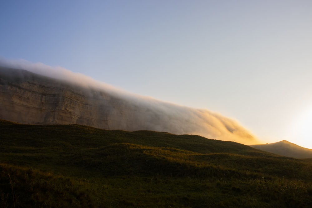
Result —
M255 144L249 146L266 152L272 152L274 154L283 155L286 157L312 158L312 149L300 147L286 140L271 144Z

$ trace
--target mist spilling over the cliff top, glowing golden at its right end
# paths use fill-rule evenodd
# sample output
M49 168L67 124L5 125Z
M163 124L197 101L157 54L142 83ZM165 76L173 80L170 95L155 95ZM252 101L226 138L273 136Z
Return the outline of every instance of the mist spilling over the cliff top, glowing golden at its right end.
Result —
M207 109L193 109L150 97L140 96L112 85L97 81L80 73L62 67L52 67L27 60L7 60L0 57L0 66L27 70L35 74L66 81L73 88L79 85L89 94L90 99L101 91L123 101L124 110L115 112L119 122L112 129L154 130L174 134L196 134L210 139L235 141L243 144L256 144L257 139L233 119ZM187 96L187 95L186 95ZM102 97L104 102L104 98ZM101 100L99 101L101 102ZM114 106L105 106L113 109ZM105 111L105 109L100 109ZM127 112L127 113L125 113ZM0 112L1 113L1 112ZM130 114L130 116L129 116ZM0 115L1 118L1 115ZM129 119L131 118L131 119ZM134 122L135 121L135 122ZM129 128L131 123L131 128ZM135 126L133 126L135 123Z

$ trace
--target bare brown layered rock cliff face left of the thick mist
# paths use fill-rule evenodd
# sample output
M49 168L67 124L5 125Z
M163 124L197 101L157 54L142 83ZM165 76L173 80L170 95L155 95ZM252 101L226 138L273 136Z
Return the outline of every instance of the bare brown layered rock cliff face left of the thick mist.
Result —
M29 124L82 124L136 130L127 102L104 91L33 74L0 69L0 118ZM116 119L118 118L118 119Z

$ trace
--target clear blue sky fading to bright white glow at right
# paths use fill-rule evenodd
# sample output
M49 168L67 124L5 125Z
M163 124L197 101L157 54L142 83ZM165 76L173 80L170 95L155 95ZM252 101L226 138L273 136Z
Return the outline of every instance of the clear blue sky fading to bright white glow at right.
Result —
M0 56L312 148L312 1L1 1Z

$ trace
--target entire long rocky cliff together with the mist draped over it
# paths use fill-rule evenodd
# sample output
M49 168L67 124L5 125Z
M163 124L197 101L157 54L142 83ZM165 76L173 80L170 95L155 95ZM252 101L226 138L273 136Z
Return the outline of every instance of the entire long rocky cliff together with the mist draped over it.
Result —
M49 67L43 64L18 65L19 69L10 68L16 68L14 64L2 65L5 66L0 67L0 119L25 124L82 124L103 129L197 134L257 143L238 123L208 110L129 94L69 70L66 75L57 70L51 74L52 67L47 74L44 69L36 70ZM49 73L50 77L44 76ZM76 79L77 76L81 79Z

